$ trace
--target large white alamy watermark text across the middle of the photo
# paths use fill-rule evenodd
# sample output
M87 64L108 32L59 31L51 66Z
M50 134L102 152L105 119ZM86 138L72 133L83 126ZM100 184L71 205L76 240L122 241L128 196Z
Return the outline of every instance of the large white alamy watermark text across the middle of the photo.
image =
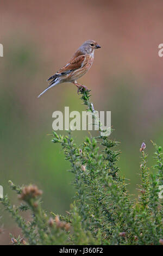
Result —
M52 117L55 118L52 124L54 131L70 129L72 131L95 130L100 131L101 136L109 136L111 133L111 111L98 112L93 109L93 113L90 111L82 111L81 115L78 111L69 112L69 107L65 107L64 114L61 111L54 111Z

